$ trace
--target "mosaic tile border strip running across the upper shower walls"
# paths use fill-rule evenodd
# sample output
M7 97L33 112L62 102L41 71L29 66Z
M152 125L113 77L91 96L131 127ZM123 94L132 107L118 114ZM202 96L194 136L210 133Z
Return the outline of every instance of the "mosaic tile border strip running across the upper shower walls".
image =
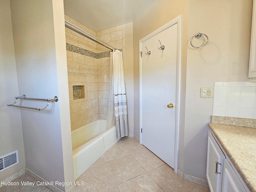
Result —
M84 48L80 48L78 46L74 46L74 45L68 44L68 43L66 43L66 50L72 51L72 52L75 52L75 53L78 53L78 54L86 55L86 56L96 58L96 59L110 57L110 51L101 52L101 53L94 53L92 51L89 51L89 50L86 50Z

